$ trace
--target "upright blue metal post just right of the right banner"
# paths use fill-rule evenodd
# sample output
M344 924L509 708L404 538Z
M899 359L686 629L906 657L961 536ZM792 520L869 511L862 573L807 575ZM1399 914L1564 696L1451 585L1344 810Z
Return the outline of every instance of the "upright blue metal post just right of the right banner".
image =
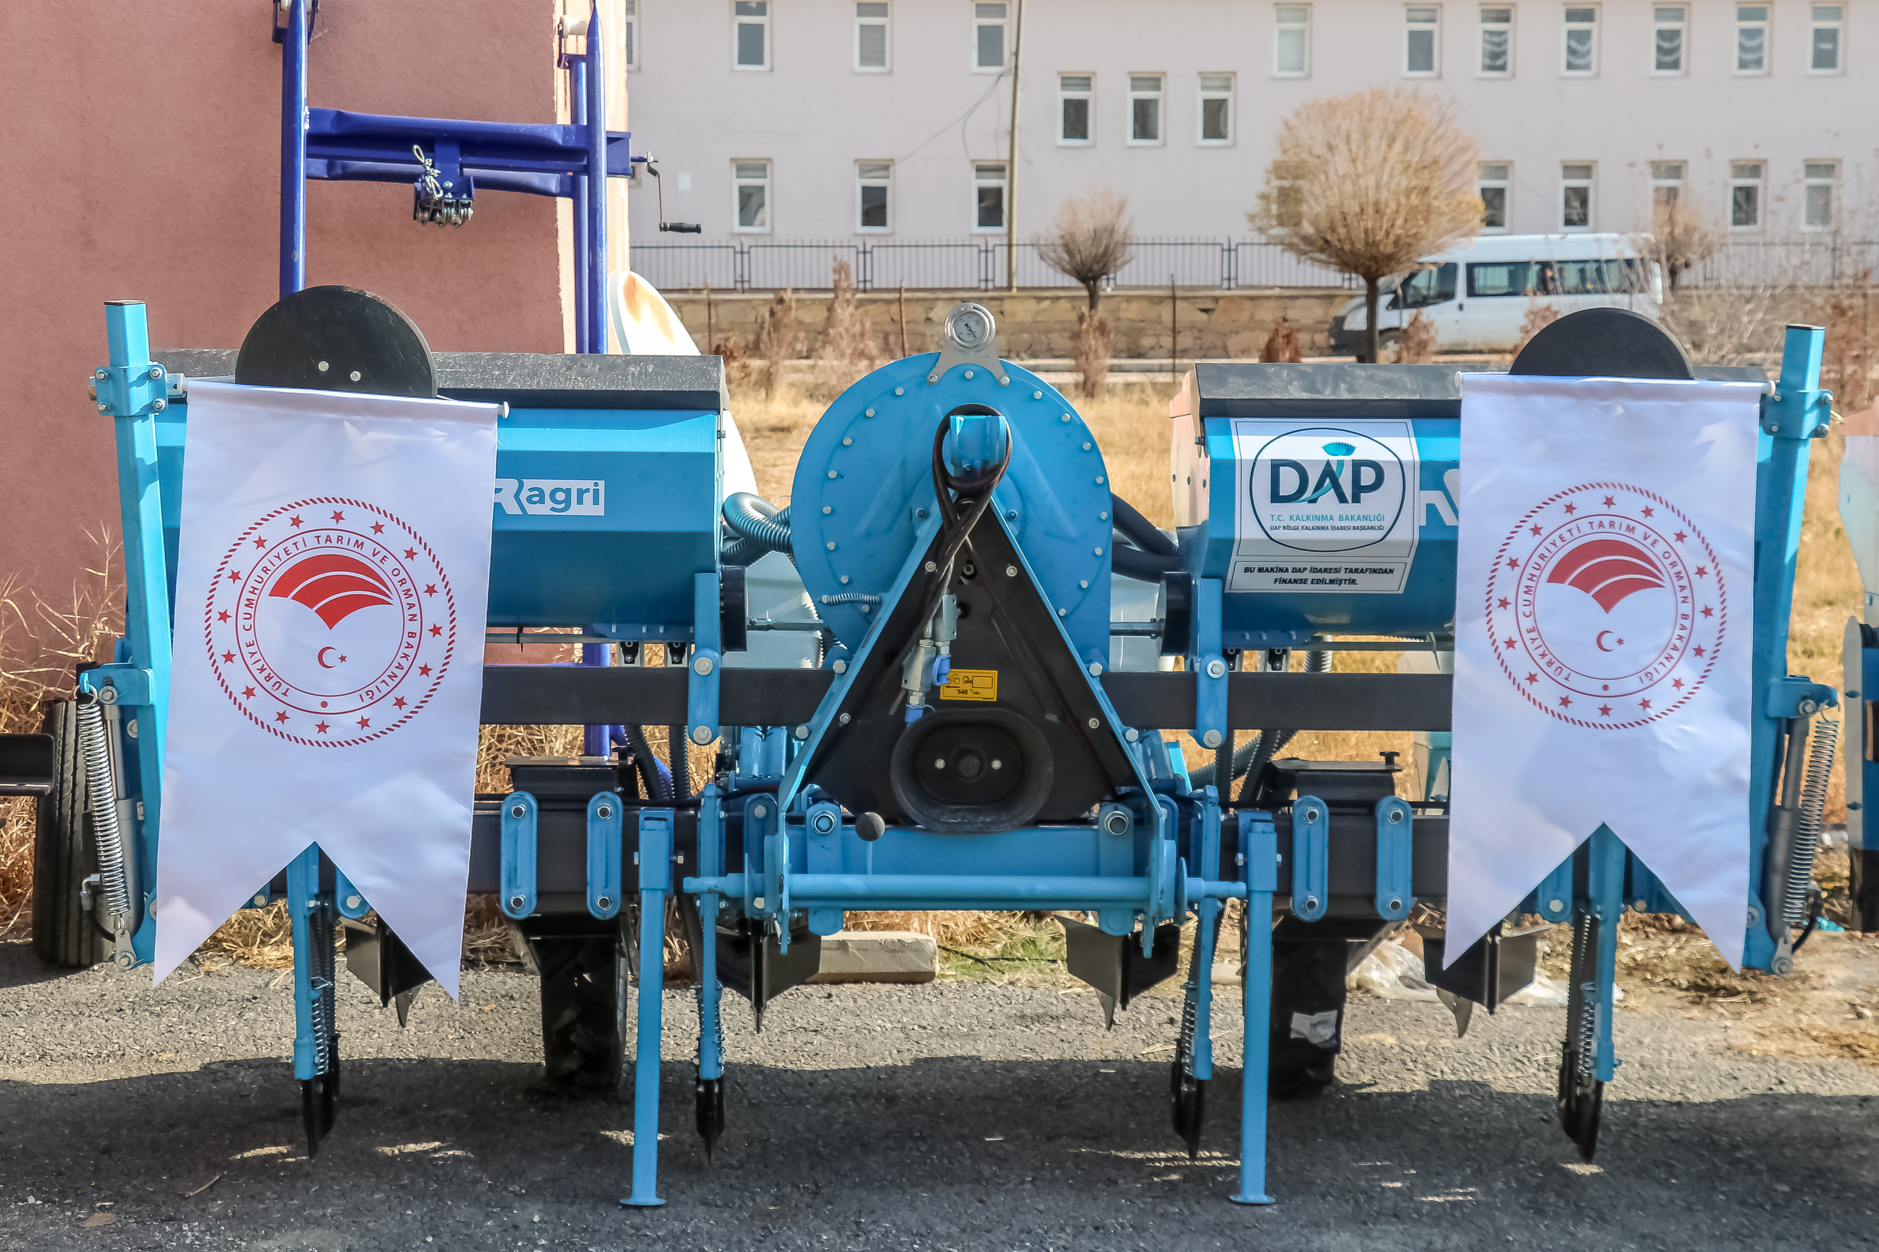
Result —
M1808 454L1813 432L1828 420L1830 396L1821 383L1821 327L1789 327L1781 342L1781 377L1763 398L1755 467L1755 608L1751 621L1749 715L1749 882L1768 897L1763 860L1768 850L1768 805L1783 741L1783 723L1768 715L1768 693L1787 676L1787 621L1794 604L1794 557L1808 503ZM1766 908L1766 903L1763 903ZM1768 969L1774 939L1766 925L1747 927L1744 965Z

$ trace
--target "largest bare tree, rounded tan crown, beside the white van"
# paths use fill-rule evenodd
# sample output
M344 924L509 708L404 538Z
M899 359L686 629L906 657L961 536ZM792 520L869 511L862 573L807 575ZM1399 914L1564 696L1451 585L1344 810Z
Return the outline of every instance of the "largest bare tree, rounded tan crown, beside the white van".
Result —
M1479 160L1447 109L1415 92L1313 99L1280 124L1246 218L1285 252L1364 280L1364 359L1375 360L1377 283L1481 229Z

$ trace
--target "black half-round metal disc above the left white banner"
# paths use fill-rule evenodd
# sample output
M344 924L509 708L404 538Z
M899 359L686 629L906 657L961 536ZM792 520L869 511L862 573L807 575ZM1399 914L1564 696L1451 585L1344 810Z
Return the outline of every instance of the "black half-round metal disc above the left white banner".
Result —
M438 366L423 332L393 304L355 287L306 287L254 319L235 381L436 396Z

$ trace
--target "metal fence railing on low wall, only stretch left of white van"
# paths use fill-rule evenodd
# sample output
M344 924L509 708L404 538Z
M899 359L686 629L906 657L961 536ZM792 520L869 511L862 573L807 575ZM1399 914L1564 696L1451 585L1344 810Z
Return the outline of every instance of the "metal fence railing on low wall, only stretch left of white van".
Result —
M943 287L996 291L1005 285L1002 237L938 240L727 238L635 244L633 270L661 291L827 291L834 261L847 261L861 291ZM1139 238L1129 261L1103 282L1114 287L1355 287L1349 274L1293 257L1278 244L1231 238ZM1033 244L1018 244L1020 287L1075 287L1045 265Z

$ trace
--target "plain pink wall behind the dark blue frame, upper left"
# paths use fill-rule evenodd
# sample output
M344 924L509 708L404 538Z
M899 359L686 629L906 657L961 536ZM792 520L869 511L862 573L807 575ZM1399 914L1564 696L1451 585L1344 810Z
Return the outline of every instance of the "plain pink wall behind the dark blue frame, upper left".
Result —
M556 120L554 0L323 0L310 101ZM0 576L49 601L116 529L111 422L85 400L103 302L154 347L239 347L276 291L280 47L257 0L0 4ZM404 186L308 190L308 283L376 291L432 349L564 347L554 201L483 195L458 229Z

